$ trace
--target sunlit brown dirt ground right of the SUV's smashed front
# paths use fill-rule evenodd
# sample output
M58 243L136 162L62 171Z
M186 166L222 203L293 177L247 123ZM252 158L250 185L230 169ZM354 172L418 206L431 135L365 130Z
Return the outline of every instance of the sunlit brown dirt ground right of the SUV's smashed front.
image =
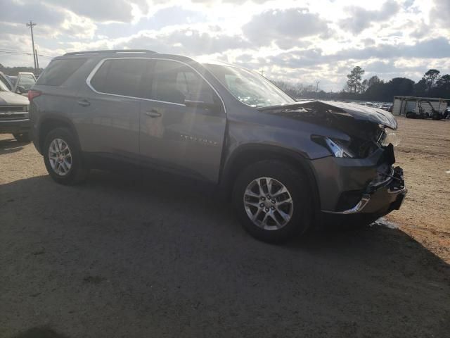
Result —
M387 220L450 263L450 121L398 120L397 164L409 193Z

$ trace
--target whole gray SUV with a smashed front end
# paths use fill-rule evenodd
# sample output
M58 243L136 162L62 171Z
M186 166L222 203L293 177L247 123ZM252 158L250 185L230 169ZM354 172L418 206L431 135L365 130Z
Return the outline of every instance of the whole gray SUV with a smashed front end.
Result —
M68 53L29 92L34 145L60 184L137 164L217 184L250 234L372 222L406 188L391 113L297 102L261 75L147 50ZM104 168L104 167L103 167Z

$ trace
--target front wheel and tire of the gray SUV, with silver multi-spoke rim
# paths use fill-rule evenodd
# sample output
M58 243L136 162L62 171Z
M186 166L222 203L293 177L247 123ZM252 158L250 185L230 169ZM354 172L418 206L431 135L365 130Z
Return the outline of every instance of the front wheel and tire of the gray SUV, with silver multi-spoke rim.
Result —
M268 182L271 182L270 194ZM287 189L287 194L279 194L281 186ZM264 194L259 187L265 196L260 196ZM281 204L283 200L289 201L289 196L292 206L290 203ZM313 215L306 178L291 165L276 160L254 163L240 173L233 187L233 206L244 229L253 237L269 243L285 242L303 234L311 225ZM290 217L283 218L280 211L284 217ZM255 222L250 217L254 217Z

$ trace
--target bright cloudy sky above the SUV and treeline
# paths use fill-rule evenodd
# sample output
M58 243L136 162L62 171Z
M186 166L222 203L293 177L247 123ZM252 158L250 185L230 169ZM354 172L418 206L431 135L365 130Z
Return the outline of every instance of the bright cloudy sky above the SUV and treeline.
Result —
M40 66L68 51L150 49L326 92L356 65L383 80L450 73L450 0L0 0L1 64L33 64L30 20Z

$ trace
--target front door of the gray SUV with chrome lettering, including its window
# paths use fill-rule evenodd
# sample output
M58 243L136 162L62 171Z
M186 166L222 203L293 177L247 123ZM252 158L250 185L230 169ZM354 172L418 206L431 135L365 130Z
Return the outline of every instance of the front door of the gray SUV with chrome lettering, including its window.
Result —
M139 143L144 163L217 182L226 115L205 79L186 63L154 59L143 82ZM209 100L217 109L186 106Z

